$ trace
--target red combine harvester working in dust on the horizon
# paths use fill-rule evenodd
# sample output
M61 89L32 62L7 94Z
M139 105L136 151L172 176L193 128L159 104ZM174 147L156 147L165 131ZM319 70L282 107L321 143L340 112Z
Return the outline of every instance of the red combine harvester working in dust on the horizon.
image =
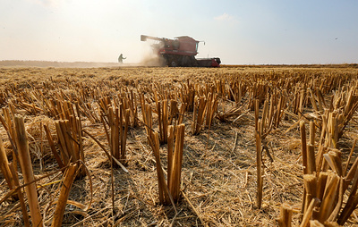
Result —
M200 41L191 37L157 38L141 35L141 41L152 39L158 43L152 45L158 55L162 56L166 61L166 65L170 67L220 67L220 58L199 58L198 44Z

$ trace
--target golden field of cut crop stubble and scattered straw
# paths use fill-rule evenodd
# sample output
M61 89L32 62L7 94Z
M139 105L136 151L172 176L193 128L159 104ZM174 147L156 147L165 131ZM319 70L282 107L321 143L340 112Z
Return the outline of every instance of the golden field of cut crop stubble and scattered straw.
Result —
M0 226L355 226L357 79L2 67Z

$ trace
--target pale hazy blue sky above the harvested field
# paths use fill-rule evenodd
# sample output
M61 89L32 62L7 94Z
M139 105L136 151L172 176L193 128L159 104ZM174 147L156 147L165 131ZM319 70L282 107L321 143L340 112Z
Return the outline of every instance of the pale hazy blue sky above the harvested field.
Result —
M1 0L0 60L140 63L141 34L227 64L358 63L358 1Z

